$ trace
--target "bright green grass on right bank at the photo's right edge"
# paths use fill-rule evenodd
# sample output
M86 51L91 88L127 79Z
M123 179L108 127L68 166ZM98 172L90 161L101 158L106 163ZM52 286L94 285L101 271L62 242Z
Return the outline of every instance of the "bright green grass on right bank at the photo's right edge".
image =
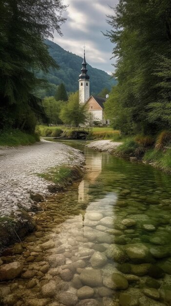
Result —
M143 161L153 163L156 168L171 174L171 149L151 149L145 153Z

